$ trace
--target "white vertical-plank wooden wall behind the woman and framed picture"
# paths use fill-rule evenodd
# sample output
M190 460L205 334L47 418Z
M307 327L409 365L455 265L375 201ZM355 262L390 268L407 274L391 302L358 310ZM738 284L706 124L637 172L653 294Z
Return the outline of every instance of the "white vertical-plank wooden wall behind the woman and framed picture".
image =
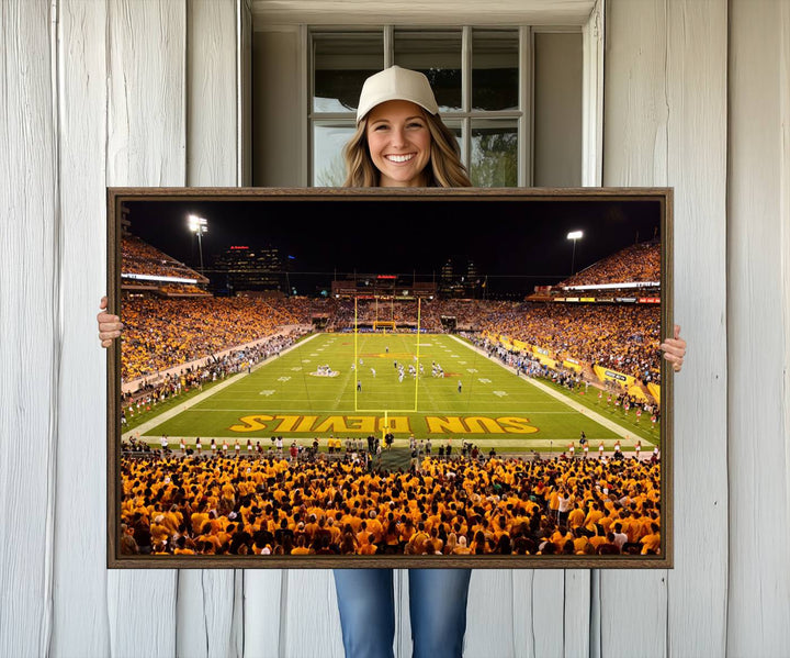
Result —
M328 571L104 567L104 189L244 182L248 12L0 2L0 656L342 654ZM603 185L675 188L676 567L475 571L465 654L787 656L790 2L607 0L606 38Z

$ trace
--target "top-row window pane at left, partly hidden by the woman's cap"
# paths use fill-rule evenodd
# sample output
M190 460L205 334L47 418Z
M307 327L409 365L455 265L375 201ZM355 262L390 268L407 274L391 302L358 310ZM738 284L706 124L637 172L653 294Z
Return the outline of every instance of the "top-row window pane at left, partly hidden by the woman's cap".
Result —
M365 78L384 68L384 36L314 34L313 58L313 111L354 111Z

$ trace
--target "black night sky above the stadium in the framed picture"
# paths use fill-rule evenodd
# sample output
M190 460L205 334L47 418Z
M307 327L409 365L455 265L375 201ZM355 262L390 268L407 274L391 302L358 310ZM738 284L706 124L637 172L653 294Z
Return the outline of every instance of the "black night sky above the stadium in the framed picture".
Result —
M256 201L125 201L131 231L194 269L198 238L187 218L208 221L203 236L205 274L213 255L232 245L274 245L290 269L326 272L436 275L451 256L467 256L489 289L556 283L597 260L658 236L655 200L326 199ZM576 243L569 231L584 231ZM511 282L506 285L510 279Z

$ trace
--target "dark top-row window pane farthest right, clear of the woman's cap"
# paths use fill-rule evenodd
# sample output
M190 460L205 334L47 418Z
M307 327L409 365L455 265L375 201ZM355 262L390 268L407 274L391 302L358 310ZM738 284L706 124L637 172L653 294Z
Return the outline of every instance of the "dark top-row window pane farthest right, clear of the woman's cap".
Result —
M515 30L472 32L472 109L518 110L519 42Z

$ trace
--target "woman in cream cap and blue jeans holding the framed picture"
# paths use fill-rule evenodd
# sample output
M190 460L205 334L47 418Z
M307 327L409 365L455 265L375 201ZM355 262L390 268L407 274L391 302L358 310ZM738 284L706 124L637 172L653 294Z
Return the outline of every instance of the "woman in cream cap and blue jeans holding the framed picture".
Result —
M425 75L393 66L362 87L357 131L343 148L343 187L471 187L452 131L439 116ZM120 317L98 315L99 337L109 347L121 335ZM686 342L675 327L662 344L679 371ZM393 569L336 569L347 658L392 658L395 635ZM408 569L414 658L460 658L466 629L471 569Z

